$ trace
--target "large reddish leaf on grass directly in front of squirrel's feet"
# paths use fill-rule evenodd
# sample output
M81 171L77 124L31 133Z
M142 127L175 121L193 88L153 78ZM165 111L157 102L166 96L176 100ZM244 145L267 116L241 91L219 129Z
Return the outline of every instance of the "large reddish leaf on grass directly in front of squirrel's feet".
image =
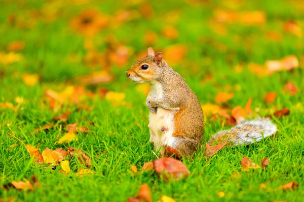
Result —
M155 160L154 169L159 176L164 176L167 181L169 179L180 180L190 173L181 161L168 157Z

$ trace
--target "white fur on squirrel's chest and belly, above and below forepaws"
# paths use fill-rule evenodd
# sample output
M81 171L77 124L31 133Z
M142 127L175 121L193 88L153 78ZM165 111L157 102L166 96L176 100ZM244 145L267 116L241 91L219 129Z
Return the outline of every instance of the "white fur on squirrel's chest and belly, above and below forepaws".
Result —
M148 99L162 99L163 88L160 84L150 86ZM149 130L150 142L154 142L155 149L161 148L161 154L164 153L164 148L167 145L174 146L174 115L177 109L168 110L158 107L157 113L150 112L149 114Z

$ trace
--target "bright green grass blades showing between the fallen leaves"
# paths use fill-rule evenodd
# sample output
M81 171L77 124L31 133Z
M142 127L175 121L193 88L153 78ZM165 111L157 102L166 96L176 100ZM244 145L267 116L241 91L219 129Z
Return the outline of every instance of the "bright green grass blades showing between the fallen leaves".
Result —
M66 62L71 54L78 54L83 59L87 53L83 46L84 37L69 28L69 19L84 8L98 8L101 12L113 15L119 8L138 10L138 5L125 3L91 2L84 5L74 5L54 1L47 4L43 1L4 1L0 3L0 52L7 53L6 46L13 40L23 40L26 47L20 52L24 60L10 65L0 61L0 103L10 102L14 105L16 97L23 97L24 102L17 112L11 109L0 109L0 185L15 180L29 179L33 174L39 179L41 187L33 191L22 191L14 188L0 188L0 198L15 197L16 201L126 201L135 196L141 184L147 183L151 189L153 200L157 201L161 194L170 196L176 201L299 201L304 194L304 111L303 111L303 69L291 72L275 73L272 76L259 77L248 69L248 64L254 62L264 64L266 60L278 60L287 55L303 57L303 38L285 33L282 26L285 20L295 20L303 27L304 15L302 8L288 1L258 1L241 5L237 10L261 10L267 15L267 22L261 26L244 26L238 24L226 25L227 34L218 35L210 26L209 19L216 8L230 9L232 5L225 1L187 4L186 1L166 1L162 4L154 2L151 6L154 14L149 19L137 18L127 21L118 27L108 27L98 33L93 42L100 53L106 49L105 38L113 34L119 41L133 48L129 63L125 67L111 64L110 70L116 80L107 85L87 86L88 90L97 92L97 88L107 88L112 91L124 92L125 102L132 107L112 106L106 99L98 95L85 103L93 107L88 112L76 111L76 107L65 105L58 112L49 108L43 102L44 91L48 88L63 90L67 84L81 85L77 76L100 70L91 68L82 60L75 63ZM55 7L56 2L58 7ZM136 1L134 1L136 2ZM230 6L229 6L230 5ZM169 7L169 9L168 9ZM36 19L32 29L20 29L7 22L10 14L19 18L32 19L29 11L42 8L59 8L57 18L52 22ZM174 11L179 19L174 24L179 37L169 40L161 34L163 27L169 23L164 20L164 13ZM231 108L244 106L248 98L253 97L252 109L259 109L258 114L264 116L268 111L288 108L290 115L275 118L279 130L275 137L251 145L225 147L212 158L202 156L200 152L193 160L183 163L191 171L191 175L179 182L167 183L159 179L156 173L134 175L130 165L138 169L144 162L156 159L148 143L149 132L148 110L145 106L145 95L136 90L136 84L128 80L125 71L136 60L135 55L147 48L143 43L143 35L147 30L153 30L159 35L159 40L153 47L162 50L166 46L182 43L188 46L186 58L173 68L185 77L188 85L196 92L201 104L214 103L216 94L227 91L231 85L235 96L227 105ZM277 31L282 34L281 41L271 41L265 38L265 32ZM237 39L236 39L237 38ZM216 44L224 44L221 51ZM166 59L166 58L165 58ZM240 62L245 64L241 73L236 73L234 67ZM169 64L170 65L170 64ZM300 63L303 68L303 59ZM41 82L33 87L26 86L21 76L23 73L37 73ZM213 79L202 82L207 75ZM287 81L292 81L297 94L290 96L282 91ZM240 86L241 88L237 87ZM269 91L278 93L274 104L265 104L264 94ZM268 110L270 109L270 110ZM52 118L66 110L73 113L68 117L68 123L79 123L91 126L92 132L80 133L79 140L68 144L54 145L65 131L62 122L56 123L49 131L34 130L42 125L53 122ZM140 126L140 127L139 127ZM205 127L204 144L215 132L229 128L221 122L208 119ZM60 130L61 129L61 130ZM82 148L92 159L94 175L83 178L75 176L77 169L83 167L75 158L69 162L72 173L65 176L59 173L60 166L52 169L47 165L34 164L26 148L15 138L7 135L15 133L26 144L38 146L40 151L46 147L55 149L67 146ZM10 148L11 144L18 144ZM266 170L256 169L249 172L241 171L241 160L247 155L253 162L259 164L267 157L271 164ZM239 173L239 178L231 179L232 173ZM298 189L283 191L278 189L282 184L296 181ZM259 187L267 183L269 191ZM218 191L224 192L219 198Z

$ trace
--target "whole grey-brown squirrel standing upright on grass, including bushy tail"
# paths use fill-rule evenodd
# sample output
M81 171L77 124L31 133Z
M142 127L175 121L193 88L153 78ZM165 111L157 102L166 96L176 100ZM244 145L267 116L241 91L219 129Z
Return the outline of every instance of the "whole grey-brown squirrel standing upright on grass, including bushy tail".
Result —
M192 156L201 147L204 135L204 115L198 97L163 59L147 49L147 56L136 61L126 72L136 83L148 83L146 99L149 109L150 142L164 155L167 146L182 157ZM260 141L273 135L277 127L269 119L244 121L230 130L213 135L207 142L227 142L234 145Z

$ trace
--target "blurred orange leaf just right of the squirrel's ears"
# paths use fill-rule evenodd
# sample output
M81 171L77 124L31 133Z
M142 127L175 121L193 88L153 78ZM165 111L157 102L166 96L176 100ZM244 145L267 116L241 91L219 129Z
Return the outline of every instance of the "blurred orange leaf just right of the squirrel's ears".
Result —
M187 54L187 46L183 44L175 44L168 46L164 49L163 55L164 60L170 65L176 65L179 63Z

